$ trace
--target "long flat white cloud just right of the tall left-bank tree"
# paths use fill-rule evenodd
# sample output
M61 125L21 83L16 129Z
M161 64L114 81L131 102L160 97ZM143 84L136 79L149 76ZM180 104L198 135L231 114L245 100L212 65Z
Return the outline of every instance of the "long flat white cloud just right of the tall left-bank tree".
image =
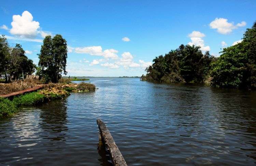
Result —
M95 56L103 56L104 58L111 58L111 59L117 59L117 50L115 49L106 49L102 51L101 46L90 46L90 47L77 47L75 48L75 52L78 54L89 54L89 55L95 55Z

